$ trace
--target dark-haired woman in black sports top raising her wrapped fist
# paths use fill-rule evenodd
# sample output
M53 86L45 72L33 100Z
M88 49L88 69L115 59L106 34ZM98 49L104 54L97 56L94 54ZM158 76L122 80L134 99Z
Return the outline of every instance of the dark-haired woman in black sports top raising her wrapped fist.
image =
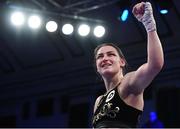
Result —
M144 24L147 31L147 62L136 71L125 74L127 62L117 46L106 43L95 49L96 70L106 88L106 93L99 96L95 102L95 128L136 127L144 107L144 89L162 69L163 51L156 32L151 4L136 4L133 14Z

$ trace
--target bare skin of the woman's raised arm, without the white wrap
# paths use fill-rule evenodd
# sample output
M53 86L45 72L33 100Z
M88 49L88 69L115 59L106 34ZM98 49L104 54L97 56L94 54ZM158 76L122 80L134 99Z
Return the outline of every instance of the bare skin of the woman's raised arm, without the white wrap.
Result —
M136 5L137 10L142 9L144 3ZM135 14L136 15L136 14ZM148 28L149 29L149 28ZM156 29L147 30L147 63L140 66L130 74L129 85L135 86L135 92L141 93L160 72L164 64L164 55L161 41Z

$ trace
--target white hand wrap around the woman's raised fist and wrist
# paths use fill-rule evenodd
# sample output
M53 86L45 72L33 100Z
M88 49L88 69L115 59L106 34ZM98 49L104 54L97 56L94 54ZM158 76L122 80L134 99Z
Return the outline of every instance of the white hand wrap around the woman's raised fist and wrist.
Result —
M135 15L138 21L142 22L147 32L156 30L156 22L153 16L153 10L151 3L145 2L144 5L144 14L143 15Z

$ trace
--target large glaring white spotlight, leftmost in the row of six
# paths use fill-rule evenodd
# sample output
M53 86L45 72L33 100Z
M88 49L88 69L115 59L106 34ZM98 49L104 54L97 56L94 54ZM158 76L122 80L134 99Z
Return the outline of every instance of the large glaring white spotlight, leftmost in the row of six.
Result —
M24 24L25 18L22 12L14 12L11 15L11 22L15 26L21 26Z

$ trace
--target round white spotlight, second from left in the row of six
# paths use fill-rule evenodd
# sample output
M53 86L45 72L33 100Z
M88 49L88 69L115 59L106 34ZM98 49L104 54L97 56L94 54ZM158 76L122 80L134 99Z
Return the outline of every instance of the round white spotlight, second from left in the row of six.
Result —
M30 16L28 19L28 25L29 27L31 27L32 29L37 29L40 27L41 25L41 19L39 16L33 15Z

